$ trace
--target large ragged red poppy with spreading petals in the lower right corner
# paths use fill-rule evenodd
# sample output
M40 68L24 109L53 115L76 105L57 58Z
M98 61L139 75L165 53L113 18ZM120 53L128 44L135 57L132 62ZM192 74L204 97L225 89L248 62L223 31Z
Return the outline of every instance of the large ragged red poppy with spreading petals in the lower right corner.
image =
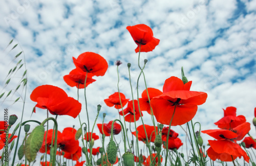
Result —
M243 156L246 162L249 162L249 157L246 152L236 143L237 140L243 137L250 131L250 124L243 123L231 130L217 129L204 130L202 133L208 134L217 140L208 140L210 148L207 150L208 156L212 160L220 159L221 161L232 161L237 157ZM231 157L232 156L232 157Z

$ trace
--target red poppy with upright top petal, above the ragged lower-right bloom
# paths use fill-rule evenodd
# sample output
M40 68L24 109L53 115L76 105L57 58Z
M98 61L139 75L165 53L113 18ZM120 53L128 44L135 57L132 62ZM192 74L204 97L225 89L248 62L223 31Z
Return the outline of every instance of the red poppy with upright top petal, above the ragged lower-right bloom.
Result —
M232 129L246 122L243 115L236 115L236 107L227 107L226 109L223 109L223 111L224 117L222 117L218 122L214 123L221 129Z

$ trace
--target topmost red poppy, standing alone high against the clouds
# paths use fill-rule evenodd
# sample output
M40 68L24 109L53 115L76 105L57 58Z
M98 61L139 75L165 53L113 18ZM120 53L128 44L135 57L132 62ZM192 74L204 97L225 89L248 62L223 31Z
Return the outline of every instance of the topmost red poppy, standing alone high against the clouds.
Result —
M153 31L150 27L139 24L136 26L128 26L126 29L130 32L133 40L138 45L135 49L135 52L150 52L155 49L155 47L159 44L159 39L153 37ZM139 47L139 45L141 45Z

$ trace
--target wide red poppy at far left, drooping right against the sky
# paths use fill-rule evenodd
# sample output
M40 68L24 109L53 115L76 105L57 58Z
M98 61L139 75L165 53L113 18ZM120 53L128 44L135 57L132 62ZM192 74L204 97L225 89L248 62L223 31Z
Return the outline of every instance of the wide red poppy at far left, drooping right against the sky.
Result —
M70 115L76 118L82 107L77 100L68 97L64 90L52 85L36 87L32 91L30 99L37 102L36 107L48 109L53 115Z

